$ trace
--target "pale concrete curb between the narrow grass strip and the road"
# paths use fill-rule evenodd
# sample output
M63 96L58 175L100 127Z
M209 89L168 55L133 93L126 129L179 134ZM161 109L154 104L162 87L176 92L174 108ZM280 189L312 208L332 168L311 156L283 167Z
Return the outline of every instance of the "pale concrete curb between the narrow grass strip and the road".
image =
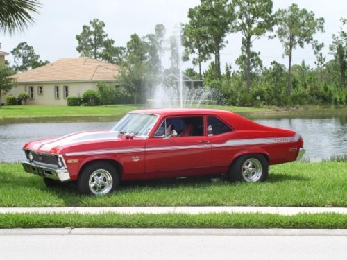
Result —
M347 229L0 229L0 236L347 236Z

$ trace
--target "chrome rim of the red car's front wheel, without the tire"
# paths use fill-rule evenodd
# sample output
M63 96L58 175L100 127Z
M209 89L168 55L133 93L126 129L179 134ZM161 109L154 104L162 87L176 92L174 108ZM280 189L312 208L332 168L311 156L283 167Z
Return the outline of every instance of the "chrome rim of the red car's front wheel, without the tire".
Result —
M112 175L104 170L97 169L89 178L89 188L95 195L107 194L112 189Z

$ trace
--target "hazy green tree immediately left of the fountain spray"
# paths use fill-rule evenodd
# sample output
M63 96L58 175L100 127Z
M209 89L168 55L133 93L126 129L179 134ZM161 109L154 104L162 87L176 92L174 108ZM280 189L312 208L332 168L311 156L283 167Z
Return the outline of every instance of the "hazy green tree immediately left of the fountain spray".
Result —
M117 80L128 92L133 94L134 103L142 102L146 88L148 46L139 35L133 34L126 44L126 62Z

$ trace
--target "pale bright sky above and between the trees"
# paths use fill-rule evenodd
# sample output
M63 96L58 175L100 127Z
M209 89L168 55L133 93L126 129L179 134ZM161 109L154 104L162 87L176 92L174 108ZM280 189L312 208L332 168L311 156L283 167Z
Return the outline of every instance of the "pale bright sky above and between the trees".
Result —
M76 35L81 33L82 26L98 18L105 22L108 37L115 40L117 46L126 46L130 35L137 33L144 36L154 32L155 24L164 24L167 37L174 31L178 23L188 21L189 8L197 6L198 0L41 0L40 14L35 15L32 24L24 33L4 35L0 33L1 51L10 53L20 42L33 46L41 60L54 62L59 58L78 57L76 51ZM316 17L325 19L325 32L314 35L316 40L325 43L323 54L327 61L332 58L328 54L332 34L338 33L341 27L341 17L347 17L347 1L344 0L273 0L273 10L287 8L291 3L299 8L312 10ZM242 36L234 33L226 37L228 44L221 50L221 64L231 64L237 69L235 59L240 55ZM264 66L269 67L276 60L287 66L288 58L282 57L283 48L278 39L268 40L266 36L253 43L253 50L260 51ZM11 55L6 59L12 62ZM304 49L298 47L293 53L293 63L300 64L305 59L310 67L314 67L314 53L310 45ZM169 59L163 61L164 67L169 67ZM193 67L191 62L185 62L183 67ZM208 64L203 65L206 69ZM196 71L198 70L195 67Z

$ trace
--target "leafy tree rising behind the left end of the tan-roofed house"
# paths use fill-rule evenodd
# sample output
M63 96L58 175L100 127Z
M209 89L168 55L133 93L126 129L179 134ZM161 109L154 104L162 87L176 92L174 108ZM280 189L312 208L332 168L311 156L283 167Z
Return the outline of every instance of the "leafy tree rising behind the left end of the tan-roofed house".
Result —
M11 51L11 54L15 63L13 69L17 72L27 71L49 63L48 60L40 60L40 55L35 53L33 46L28 45L26 42L19 43Z

